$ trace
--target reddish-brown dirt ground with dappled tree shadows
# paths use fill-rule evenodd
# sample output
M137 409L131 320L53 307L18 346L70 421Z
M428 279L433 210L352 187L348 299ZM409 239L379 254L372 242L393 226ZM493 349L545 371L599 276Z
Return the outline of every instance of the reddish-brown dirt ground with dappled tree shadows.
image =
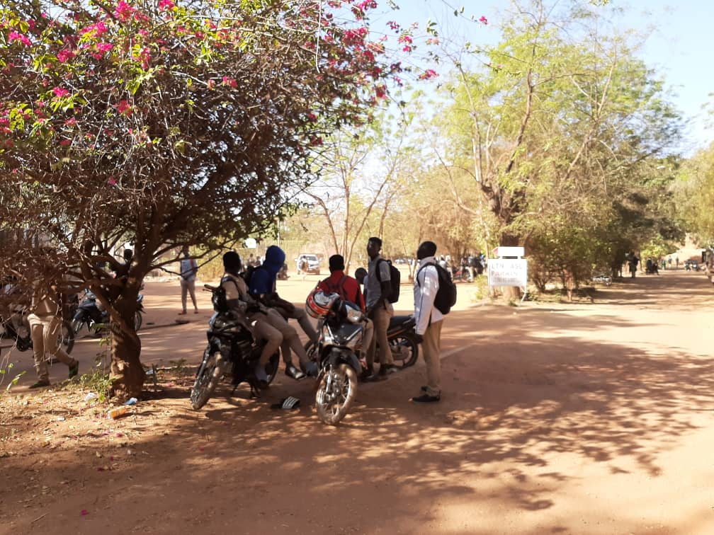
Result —
M314 283L281 294L297 302ZM147 321L173 322L176 286L147 285ZM703 275L638 277L570 305L473 305L459 288L442 401L408 401L419 362L361 385L339 427L318 422L311 384L282 375L265 399L224 387L201 412L166 388L116 422L81 398L47 409L29 377L0 417L0 533L714 533ZM144 330L143 360L197 362L201 307ZM76 347L83 372L94 352ZM269 408L288 394L301 409Z

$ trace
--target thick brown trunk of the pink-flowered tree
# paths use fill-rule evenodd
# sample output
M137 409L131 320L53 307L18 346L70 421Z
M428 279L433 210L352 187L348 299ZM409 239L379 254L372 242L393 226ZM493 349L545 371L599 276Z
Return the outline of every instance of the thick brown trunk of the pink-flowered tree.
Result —
M141 365L141 340L136 335L134 314L139 289L126 287L113 303L118 317L111 317L111 394L119 399L139 397L146 372ZM113 311L114 312L114 311Z

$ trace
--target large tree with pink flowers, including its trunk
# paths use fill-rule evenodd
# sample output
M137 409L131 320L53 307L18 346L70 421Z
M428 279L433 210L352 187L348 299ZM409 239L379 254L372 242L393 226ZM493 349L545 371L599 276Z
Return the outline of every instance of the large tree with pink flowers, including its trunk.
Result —
M375 7L0 7L0 274L30 284L51 267L98 296L114 394L144 383L132 321L144 276L181 245L220 250L273 224L313 180L321 139L369 121L386 97L400 66L370 38ZM127 241L123 265L112 253Z

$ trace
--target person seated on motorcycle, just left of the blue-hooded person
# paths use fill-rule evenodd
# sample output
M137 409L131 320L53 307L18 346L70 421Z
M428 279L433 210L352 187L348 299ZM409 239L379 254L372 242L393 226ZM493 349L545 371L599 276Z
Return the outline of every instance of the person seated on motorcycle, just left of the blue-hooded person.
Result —
M278 350L283 343L282 333L273 327L264 314L261 313L259 305L248 294L248 287L241 272L241 257L235 251L228 251L223 255L223 269L226 270L221 277L221 287L226 290L226 302L228 307L238 314L243 322L248 326L256 340L265 340L266 345L261 352L260 360L256 366L255 374L258 381L268 381L266 365L270 362L270 357Z

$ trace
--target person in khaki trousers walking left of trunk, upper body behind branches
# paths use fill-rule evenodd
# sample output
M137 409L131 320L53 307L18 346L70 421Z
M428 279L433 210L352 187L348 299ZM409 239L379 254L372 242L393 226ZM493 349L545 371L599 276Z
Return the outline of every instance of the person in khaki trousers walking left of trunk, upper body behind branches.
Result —
M47 362L52 357L69 367L70 379L79 373L79 360L69 357L61 345L57 344L62 328L62 301L61 294L54 285L49 290L36 287L33 292L32 312L27 319L30 323L37 382L31 384L30 388L49 387Z

